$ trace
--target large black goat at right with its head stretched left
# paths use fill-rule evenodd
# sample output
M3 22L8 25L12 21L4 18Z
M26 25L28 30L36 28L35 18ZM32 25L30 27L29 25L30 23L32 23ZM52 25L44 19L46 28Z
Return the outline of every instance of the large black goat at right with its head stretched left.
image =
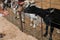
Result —
M60 29L60 10L56 8L48 8L48 9L42 9L38 8L36 6L28 6L24 9L24 13L33 13L36 15L39 15L43 18L44 22L46 23L46 33L44 36L47 36L48 34L48 26L50 26L50 38L49 40L52 40L52 33L54 30L54 27Z

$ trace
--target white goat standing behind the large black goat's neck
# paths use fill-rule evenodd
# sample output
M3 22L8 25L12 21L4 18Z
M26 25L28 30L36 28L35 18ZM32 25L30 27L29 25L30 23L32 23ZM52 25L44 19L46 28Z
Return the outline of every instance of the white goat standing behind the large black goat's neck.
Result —
M26 0L26 1L25 1L25 4L24 4L24 9L29 6L29 2L30 2L30 3L33 3L33 5L35 5L35 4L34 4L34 3L35 3L34 0L32 0L32 1ZM33 5L31 5L31 6L33 6ZM26 15L27 15L27 16L30 18L30 20L31 20L30 26L32 26L33 28L35 28L35 27L39 24L39 22L38 22L38 20L37 20L37 19L39 19L39 17L36 16L35 14L29 14L29 13L26 13Z

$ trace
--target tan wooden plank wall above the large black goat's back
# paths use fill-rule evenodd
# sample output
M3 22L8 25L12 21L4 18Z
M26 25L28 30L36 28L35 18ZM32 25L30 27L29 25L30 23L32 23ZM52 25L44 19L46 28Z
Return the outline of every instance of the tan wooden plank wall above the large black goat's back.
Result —
M41 0L36 0L36 5L41 6ZM50 0L43 0L42 1L43 8L50 8ZM51 8L60 9L60 0L51 0Z

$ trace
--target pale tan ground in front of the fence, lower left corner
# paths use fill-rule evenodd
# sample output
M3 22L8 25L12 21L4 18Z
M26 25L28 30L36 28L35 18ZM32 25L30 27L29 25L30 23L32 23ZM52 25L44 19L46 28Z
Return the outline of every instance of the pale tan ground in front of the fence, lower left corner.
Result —
M37 40L21 32L18 27L7 21L4 17L0 17L0 33L5 34L0 40Z

